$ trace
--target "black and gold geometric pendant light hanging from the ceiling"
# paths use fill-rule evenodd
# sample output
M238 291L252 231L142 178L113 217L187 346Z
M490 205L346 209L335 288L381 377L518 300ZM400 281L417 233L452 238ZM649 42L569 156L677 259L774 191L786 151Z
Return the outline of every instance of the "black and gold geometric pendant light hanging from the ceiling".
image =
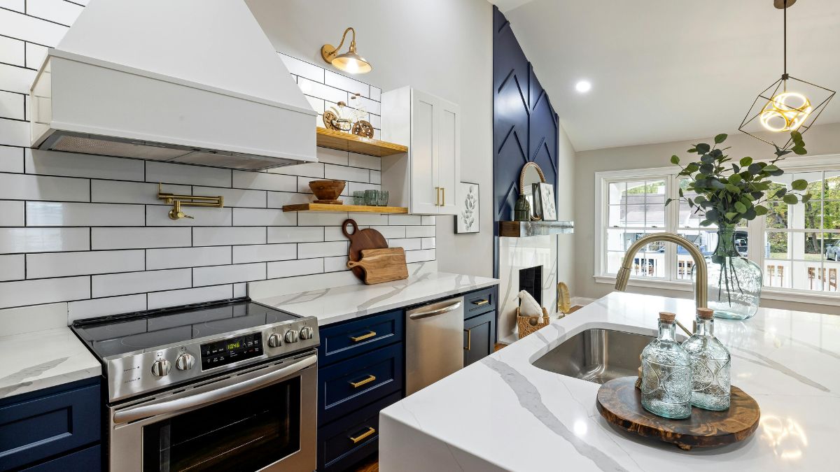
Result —
M787 73L787 9L794 3L796 0L773 0L774 7L783 12L784 71L778 81L774 81L770 87L759 93L738 127L743 133L773 145L776 144L772 139L761 138L755 133L784 133L787 142L783 148L790 144L790 132L798 130L805 133L834 97L833 90L797 79Z

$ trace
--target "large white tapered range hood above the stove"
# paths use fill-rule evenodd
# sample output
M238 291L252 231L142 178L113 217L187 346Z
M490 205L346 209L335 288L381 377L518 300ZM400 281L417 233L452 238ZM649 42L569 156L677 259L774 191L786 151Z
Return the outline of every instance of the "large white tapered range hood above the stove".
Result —
M318 113L244 0L91 0L31 89L32 147L258 170Z

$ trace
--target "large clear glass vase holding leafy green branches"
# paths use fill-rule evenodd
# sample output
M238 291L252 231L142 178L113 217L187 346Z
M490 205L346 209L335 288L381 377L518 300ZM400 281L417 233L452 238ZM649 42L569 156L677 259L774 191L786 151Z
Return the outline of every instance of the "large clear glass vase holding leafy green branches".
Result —
M741 246L746 248L746 242ZM753 317L759 309L763 275L758 264L738 253L735 227L717 229L717 248L706 257L706 266L709 307L715 311L715 317Z

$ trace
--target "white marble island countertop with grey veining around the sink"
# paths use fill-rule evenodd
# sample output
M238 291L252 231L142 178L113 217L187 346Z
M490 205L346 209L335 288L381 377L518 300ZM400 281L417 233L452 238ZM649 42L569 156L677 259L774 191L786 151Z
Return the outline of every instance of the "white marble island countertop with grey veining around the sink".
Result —
M827 470L840 438L840 317L759 309L716 320L732 384L759 402L753 436L683 451L614 429L596 410L600 385L531 362L588 328L654 334L657 313L690 326L694 302L614 292L380 415L380 469ZM834 464L834 465L832 465Z

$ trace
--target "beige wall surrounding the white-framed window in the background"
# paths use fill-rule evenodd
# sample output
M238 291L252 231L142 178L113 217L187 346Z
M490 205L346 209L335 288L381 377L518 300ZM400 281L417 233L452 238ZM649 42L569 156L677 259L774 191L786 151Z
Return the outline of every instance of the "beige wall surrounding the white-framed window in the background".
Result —
M808 155L829 155L840 153L840 123L824 124L811 128L805 135ZM612 291L612 285L596 283L594 274L594 236L595 214L600 211L594 207L597 189L593 188L595 173L602 170L643 169L670 165L671 155L685 156L691 143L711 142L711 138L694 141L676 141L672 143L645 144L622 148L595 149L577 153L575 162L575 286L572 296L600 298ZM759 159L772 155L773 149L758 139L746 134L730 134L727 145L732 146L727 152L732 156L751 155ZM789 160L797 159L792 156ZM782 166L784 169L784 165ZM690 298L687 291L669 291L629 287L628 291L652 293L662 296ZM763 307L786 308L805 312L824 312L840 314L840 307L794 302L762 301Z

